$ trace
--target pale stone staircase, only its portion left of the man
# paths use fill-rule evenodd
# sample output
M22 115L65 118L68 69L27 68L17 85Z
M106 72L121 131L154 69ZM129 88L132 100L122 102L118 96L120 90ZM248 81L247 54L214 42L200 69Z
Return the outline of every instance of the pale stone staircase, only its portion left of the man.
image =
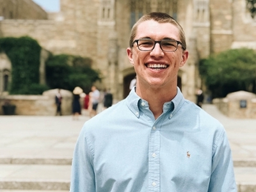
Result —
M2 158L0 192L69 191L71 161L72 159Z

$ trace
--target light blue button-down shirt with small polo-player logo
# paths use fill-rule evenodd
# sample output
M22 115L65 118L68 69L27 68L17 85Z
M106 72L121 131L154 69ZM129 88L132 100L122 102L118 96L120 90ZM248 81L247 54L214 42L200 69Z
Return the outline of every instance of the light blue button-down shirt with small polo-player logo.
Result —
M88 120L74 150L70 191L236 191L223 125L177 90L157 120L134 88Z

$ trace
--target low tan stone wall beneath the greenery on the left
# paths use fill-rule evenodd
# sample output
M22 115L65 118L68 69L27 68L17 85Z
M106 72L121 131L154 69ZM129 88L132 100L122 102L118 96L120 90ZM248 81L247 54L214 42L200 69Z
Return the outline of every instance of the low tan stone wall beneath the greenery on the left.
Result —
M0 115L4 115L2 106L8 101L15 105L15 115L56 115L55 95L58 90L49 90L43 95L6 95L0 96ZM61 104L62 115L72 114L72 93L61 90L63 97Z

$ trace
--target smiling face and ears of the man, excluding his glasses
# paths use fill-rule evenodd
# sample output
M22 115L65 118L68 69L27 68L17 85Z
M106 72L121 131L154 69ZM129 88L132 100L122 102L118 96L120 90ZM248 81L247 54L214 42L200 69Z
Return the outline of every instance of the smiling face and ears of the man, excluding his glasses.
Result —
M134 40L150 38L159 41L171 38L180 41L179 36L179 29L173 24L147 20L138 25ZM159 44L152 51L140 51L135 43L132 49L127 48L127 55L134 65L137 86L161 88L173 84L177 86L178 70L186 63L188 51L183 51L179 45L175 52L164 52Z

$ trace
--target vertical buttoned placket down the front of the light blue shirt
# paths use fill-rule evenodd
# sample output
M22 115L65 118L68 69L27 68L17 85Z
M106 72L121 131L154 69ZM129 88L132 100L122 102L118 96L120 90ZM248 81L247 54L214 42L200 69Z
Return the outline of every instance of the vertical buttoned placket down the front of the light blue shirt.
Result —
M160 131L158 125L152 126L148 147L148 189L160 191Z

